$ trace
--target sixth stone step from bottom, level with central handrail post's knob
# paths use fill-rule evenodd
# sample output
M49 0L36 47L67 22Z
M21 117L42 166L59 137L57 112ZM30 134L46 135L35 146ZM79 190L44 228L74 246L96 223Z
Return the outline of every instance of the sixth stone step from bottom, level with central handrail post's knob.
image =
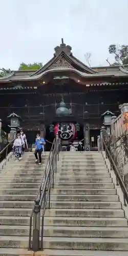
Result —
M0 201L0 208L32 208L33 201ZM121 209L120 202L73 202L73 201L51 201L51 208L72 209Z

